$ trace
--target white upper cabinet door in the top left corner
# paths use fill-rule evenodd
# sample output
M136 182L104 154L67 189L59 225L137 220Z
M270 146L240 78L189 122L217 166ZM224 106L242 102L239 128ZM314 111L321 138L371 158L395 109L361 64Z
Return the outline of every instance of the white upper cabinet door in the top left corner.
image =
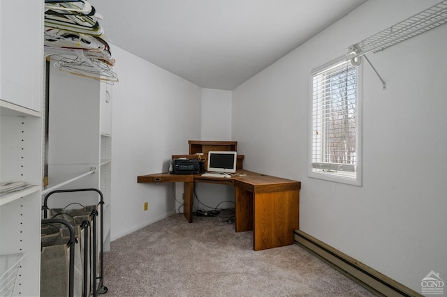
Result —
M37 3L36 3L37 2ZM1 100L41 111L43 1L1 0ZM27 22L17 22L17 16ZM13 24L11 26L11 24ZM20 38L17 36L20 32Z

